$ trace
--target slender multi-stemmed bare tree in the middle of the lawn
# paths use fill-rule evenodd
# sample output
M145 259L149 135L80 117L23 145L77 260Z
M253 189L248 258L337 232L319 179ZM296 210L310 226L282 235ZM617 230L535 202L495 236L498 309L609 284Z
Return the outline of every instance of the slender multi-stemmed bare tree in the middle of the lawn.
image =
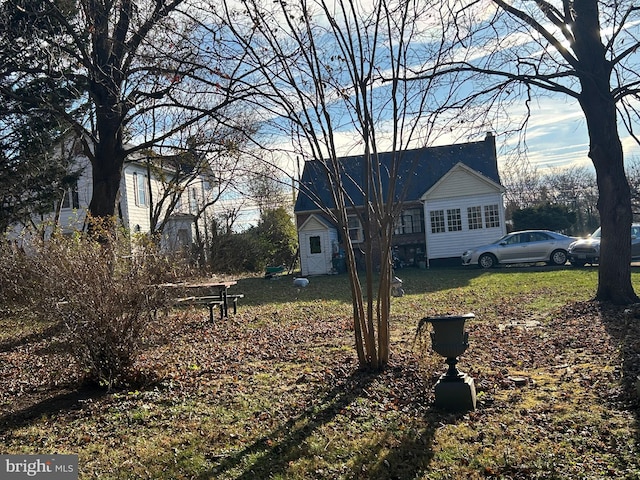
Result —
M304 184L300 194L315 198L339 227L359 365L384 368L390 353L392 238L402 199L395 179L403 151L424 146L431 127L431 85L401 79L406 66L426 54L425 45L440 45L440 30L426 28L434 10L424 0L240 0L225 7L230 35L256 72L248 80L259 85L256 110L264 119L263 133L293 139L292 156L313 162L328 185L331 204ZM347 188L353 180L341 162L345 152L362 162L356 194ZM380 161L383 152L393 156L388 168ZM362 277L349 214L358 216L364 231L358 246L365 258Z

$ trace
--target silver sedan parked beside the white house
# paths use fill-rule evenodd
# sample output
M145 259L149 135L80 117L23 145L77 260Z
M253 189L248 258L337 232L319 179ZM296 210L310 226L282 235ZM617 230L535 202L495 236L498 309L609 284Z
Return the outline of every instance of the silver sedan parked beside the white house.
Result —
M499 263L537 263L564 265L567 249L576 240L549 230L513 232L488 245L482 245L462 254L463 265L491 268Z

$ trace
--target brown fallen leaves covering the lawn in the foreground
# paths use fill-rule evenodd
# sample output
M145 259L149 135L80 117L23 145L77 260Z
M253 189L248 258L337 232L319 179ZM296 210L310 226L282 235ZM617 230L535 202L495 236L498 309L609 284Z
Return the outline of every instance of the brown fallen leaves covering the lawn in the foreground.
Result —
M359 371L351 320L320 308L159 315L136 365L147 383L108 393L78 388L60 329L44 326L0 344L0 439L12 453L79 452L104 478L153 478L154 455L171 456L165 478L440 478L445 457L478 478L637 473L621 431L638 407L640 314L493 308L467 325L467 414L433 409L443 359L400 341L384 372ZM394 324L402 338L414 327Z

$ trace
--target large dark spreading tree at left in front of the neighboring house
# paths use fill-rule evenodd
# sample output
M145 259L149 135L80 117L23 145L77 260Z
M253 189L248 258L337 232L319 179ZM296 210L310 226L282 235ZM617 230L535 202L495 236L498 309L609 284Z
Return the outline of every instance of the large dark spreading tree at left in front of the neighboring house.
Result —
M7 0L0 5L4 101L59 118L91 161L94 217L113 217L135 152L175 151L231 111L233 67L216 25L189 0ZM27 89L34 79L47 88ZM51 90L78 100L59 102Z

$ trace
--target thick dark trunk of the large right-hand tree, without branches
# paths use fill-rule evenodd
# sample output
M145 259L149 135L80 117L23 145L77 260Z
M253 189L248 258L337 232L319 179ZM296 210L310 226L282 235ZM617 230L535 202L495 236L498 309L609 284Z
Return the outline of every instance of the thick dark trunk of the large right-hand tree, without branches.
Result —
M576 0L574 49L582 91L578 97L589 130L589 157L596 169L602 236L596 299L617 304L638 301L631 284L631 191L611 92L612 64L600 39L598 2Z

